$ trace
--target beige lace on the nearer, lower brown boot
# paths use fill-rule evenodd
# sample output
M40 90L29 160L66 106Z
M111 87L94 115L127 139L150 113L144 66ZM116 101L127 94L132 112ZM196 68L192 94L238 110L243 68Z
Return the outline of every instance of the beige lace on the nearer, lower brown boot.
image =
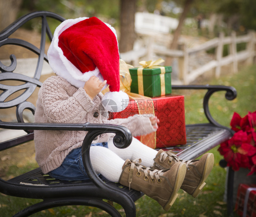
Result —
M147 181L150 176L151 182L154 183L155 181L157 181L158 183L160 183L161 182L160 176L162 176L164 171L166 171L166 170L163 171L163 170L157 170L157 169L152 169L150 167L142 166L141 159L138 159L138 158L133 161L130 161L129 163L131 164L131 167L129 168L129 177L128 177L129 190L132 183L132 177L134 172L137 172L136 173L137 176L141 176L141 172L143 172L145 175L144 177L145 181Z

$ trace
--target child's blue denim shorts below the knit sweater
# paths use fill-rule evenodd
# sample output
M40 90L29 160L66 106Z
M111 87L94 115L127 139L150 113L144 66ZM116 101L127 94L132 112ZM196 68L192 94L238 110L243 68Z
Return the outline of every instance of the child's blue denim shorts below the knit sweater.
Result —
M107 142L91 144L108 148ZM60 180L78 181L89 179L82 161L82 147L73 149L57 169L48 173L51 177Z

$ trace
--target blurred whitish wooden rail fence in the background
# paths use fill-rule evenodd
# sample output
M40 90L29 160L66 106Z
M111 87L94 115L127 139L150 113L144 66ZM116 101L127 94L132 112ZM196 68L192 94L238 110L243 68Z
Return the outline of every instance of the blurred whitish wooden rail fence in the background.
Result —
M152 39L154 40L154 39ZM237 51L237 44L246 43L246 49ZM193 82L200 75L213 70L215 77L218 78L221 74L221 67L225 65L232 66L232 71L238 71L238 62L246 61L248 65L252 65L256 56L256 33L250 31L246 35L236 36L233 32L230 36L224 37L221 33L218 38L209 40L197 47L188 48L184 47L183 50L170 50L168 48L159 49L154 46L154 42L148 43L150 46L143 47L136 51L129 51L121 53L120 57L124 61L138 66L140 60L151 60L153 57L174 57L178 60L178 77L182 84L189 84ZM224 45L228 45L229 54L223 56ZM215 49L215 57L204 65L195 69L189 69L189 59L192 55L198 52L205 52L210 49Z

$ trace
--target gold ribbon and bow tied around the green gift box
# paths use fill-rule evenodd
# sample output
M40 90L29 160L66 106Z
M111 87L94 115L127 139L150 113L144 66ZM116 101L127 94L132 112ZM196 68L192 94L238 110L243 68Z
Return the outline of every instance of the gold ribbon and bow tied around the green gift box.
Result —
M160 74L160 84L161 84L161 96L165 95L165 67L159 66L159 64L163 63L164 60L162 58L159 58L158 60L149 60L149 61L140 61L139 64L142 65L142 67L139 67L137 70L137 76L138 76L138 93L140 95L144 95L144 87L143 87L143 69L144 68L160 68L161 74Z

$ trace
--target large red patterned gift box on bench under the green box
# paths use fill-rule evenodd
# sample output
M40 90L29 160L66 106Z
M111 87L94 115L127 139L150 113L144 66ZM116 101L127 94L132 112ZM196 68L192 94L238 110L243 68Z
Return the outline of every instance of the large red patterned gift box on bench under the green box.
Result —
M155 137L155 148L164 148L186 144L184 96L169 94L149 99L130 99L125 110L111 113L110 118L127 118L139 114L138 107L151 106L154 103L154 113L160 120ZM141 140L140 137L136 137ZM145 144L147 145L147 144Z

